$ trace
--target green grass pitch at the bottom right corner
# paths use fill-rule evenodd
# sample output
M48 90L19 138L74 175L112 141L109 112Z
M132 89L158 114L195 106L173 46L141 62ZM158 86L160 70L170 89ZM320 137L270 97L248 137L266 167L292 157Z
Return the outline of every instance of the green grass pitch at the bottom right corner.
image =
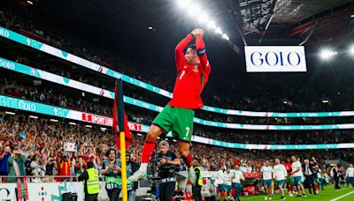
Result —
M352 192L350 195L347 195L345 197L335 199L337 197L344 196L348 193ZM294 194L296 195L296 194ZM340 190L335 190L334 187L332 186L326 186L325 190L320 190L319 194L317 196L310 195L308 190L306 190L306 195L307 197L289 197L288 191L285 191L285 197L287 197L286 200L304 200L304 201L330 201L330 200L338 200L338 201L354 201L354 188L350 186L350 188L347 189L345 186L344 188ZM241 201L253 201L253 200L265 200L264 195L257 195L257 196L249 196L249 197L240 197ZM279 193L276 193L272 197L273 200L281 200L281 195Z

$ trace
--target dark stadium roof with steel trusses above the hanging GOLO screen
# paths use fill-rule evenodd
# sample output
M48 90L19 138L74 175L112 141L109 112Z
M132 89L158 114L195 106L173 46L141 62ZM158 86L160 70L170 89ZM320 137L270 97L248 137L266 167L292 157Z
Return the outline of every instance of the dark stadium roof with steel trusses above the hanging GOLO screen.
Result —
M17 1L26 3L25 0ZM57 26L96 43L100 48L127 57L135 54L134 58L143 63L165 67L173 65L176 42L193 28L201 26L197 20L189 18L187 11L178 9L177 1L34 0L35 4L27 6L58 19ZM241 50L244 40L248 45L298 45L305 42L308 51L311 44L347 39L353 34L352 0L192 2L202 4ZM152 29L148 28L150 26ZM243 63L243 56L235 56L235 48L229 48L227 42L210 33L205 36L208 52L215 53L210 55L214 56L212 61L219 63L220 69Z

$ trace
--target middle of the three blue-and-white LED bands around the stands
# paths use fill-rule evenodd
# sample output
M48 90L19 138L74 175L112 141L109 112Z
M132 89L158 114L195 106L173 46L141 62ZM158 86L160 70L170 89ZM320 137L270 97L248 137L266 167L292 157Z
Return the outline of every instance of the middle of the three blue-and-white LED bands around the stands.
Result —
M9 71L17 71L26 74L28 76L32 76L35 78L42 78L44 80L48 80L50 82L59 85L69 86L74 89L79 89L81 91L93 93L109 99L114 98L114 93L109 90L105 90L103 88L99 88L96 86L90 86L88 84L84 84L70 78L65 78L47 71L38 70L33 67L29 67L21 63L15 63L4 58L0 58L0 66ZM128 96L124 96L124 101L128 104L140 108L150 109L156 112L160 112L163 109L160 106L153 105L151 103L142 100L136 100ZM338 130L338 129L354 128L354 123L322 124L322 125L258 125L258 124L243 124L243 123L220 123L220 122L204 120L197 117L194 118L194 122L206 126L214 126L214 127L227 128L227 129L242 129L242 130Z

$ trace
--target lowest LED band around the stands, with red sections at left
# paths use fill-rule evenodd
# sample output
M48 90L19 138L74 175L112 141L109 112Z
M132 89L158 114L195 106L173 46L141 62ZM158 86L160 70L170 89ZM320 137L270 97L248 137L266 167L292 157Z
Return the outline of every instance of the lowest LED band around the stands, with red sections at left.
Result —
M0 95L0 107L19 109L31 113L38 113L43 115L50 115L55 117L62 117L65 119L72 119L75 121L85 123L95 123L104 126L112 126L112 118L100 115L89 114L85 112L76 111L68 108L60 108L47 104L42 104L30 100L22 100L9 96ZM149 126L139 123L128 123L129 128L135 131L147 132ZM354 124L352 125L354 128ZM171 133L167 137L171 137ZM212 138L203 138L192 136L192 141L207 145L217 145L227 148L236 149L260 149L260 150L300 150L300 149L344 149L354 148L354 143L341 144L315 144L315 145L255 145L255 144L240 144L229 143L225 141L215 140Z

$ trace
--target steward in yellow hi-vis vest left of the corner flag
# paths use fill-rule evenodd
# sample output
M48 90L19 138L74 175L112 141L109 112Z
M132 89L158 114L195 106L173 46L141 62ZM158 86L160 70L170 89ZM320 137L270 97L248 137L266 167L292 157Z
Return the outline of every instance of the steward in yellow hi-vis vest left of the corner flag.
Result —
M83 181L85 201L96 201L99 193L99 179L92 161L88 162L88 169L79 176L79 182Z

